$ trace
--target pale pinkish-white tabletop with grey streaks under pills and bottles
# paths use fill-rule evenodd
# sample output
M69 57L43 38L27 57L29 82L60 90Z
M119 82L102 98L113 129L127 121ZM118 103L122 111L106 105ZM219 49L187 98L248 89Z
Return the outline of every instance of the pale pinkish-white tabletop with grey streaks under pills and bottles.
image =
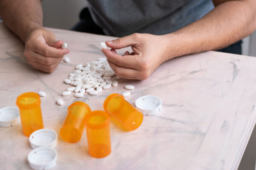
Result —
M162 111L144 116L142 125L125 132L111 121L112 153L102 159L88 154L86 131L75 144L58 136L54 170L235 170L256 122L256 58L208 51L163 63L147 80L120 79L116 88L97 96L61 96L70 85L63 80L75 65L102 57L100 42L113 37L50 28L67 42L70 63L52 74L33 69L23 56L24 45L0 23L0 108L15 106L18 95L45 91L41 98L44 127L57 131L68 105L87 103L102 110L105 98L134 85L126 99L134 105L143 95L163 101ZM119 53L124 52L122 50ZM63 99L64 105L56 104ZM30 169L32 150L21 124L0 127L0 169Z

